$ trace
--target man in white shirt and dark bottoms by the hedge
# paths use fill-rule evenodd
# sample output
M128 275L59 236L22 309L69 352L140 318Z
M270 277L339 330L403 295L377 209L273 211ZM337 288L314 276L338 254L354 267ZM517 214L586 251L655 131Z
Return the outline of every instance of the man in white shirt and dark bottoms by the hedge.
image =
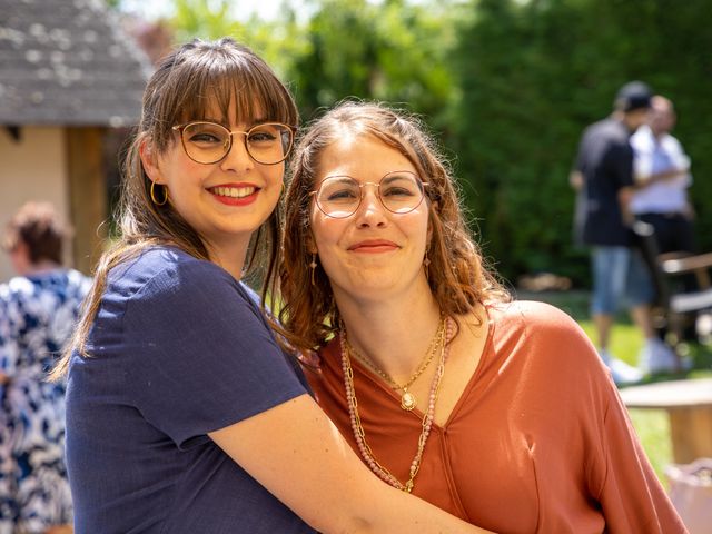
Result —
M655 96L647 122L631 136L636 185L631 211L653 226L661 254L694 250L693 211L688 200L690 158L670 135L675 119L672 102Z

